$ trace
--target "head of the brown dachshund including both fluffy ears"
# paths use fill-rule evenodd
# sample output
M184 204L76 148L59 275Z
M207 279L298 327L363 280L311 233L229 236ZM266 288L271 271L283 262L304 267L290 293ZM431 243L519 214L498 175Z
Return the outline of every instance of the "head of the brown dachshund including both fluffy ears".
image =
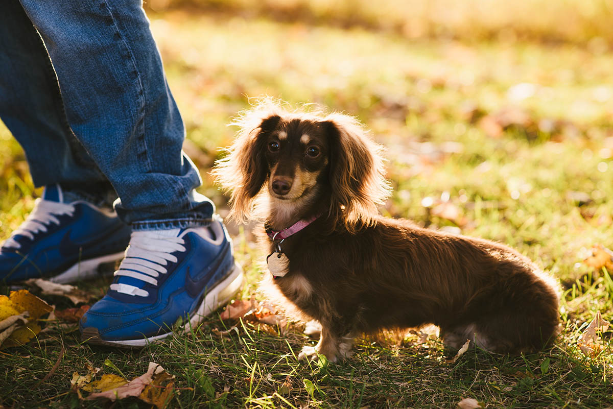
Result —
M249 111L228 156L213 173L232 192L232 216L252 217L254 198L266 192L277 212L308 216L326 206L353 230L371 223L389 194L381 146L343 114L315 115L279 107Z

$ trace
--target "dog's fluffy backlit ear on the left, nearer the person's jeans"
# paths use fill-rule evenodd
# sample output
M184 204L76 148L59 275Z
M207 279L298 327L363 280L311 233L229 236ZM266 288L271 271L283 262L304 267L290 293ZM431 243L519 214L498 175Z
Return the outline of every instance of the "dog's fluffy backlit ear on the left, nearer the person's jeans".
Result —
M238 222L251 217L253 201L268 178L264 157L268 133L275 130L281 117L270 114L254 122L243 121L237 137L224 159L216 163L212 173L221 186L231 192L230 216ZM258 123L259 122L259 123Z

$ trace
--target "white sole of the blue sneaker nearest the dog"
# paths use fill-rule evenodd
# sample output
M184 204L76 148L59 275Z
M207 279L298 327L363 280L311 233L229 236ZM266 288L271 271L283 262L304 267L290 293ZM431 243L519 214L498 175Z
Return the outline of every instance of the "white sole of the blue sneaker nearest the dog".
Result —
M202 320L204 320L207 315L210 315L211 312L227 304L227 302L229 302L230 299L232 299L232 297L234 297L236 293L238 293L238 291L243 288L244 285L245 276L243 276L243 269L241 268L241 266L238 265L238 263L234 263L234 269L232 269L230 275L227 276L218 285L213 287L210 291L208 291L207 295L205 295L196 312L194 312L194 314L189 318L189 322L186 323L185 326L183 326L183 329L185 331L191 331L192 328L196 328L196 326L200 322L202 322ZM99 339L94 334L88 334L87 330L88 328L85 328L85 330L83 331L82 339L88 339L90 343L128 348L145 347L150 343L162 340L175 333L173 331L170 331L166 334L143 339L109 341Z

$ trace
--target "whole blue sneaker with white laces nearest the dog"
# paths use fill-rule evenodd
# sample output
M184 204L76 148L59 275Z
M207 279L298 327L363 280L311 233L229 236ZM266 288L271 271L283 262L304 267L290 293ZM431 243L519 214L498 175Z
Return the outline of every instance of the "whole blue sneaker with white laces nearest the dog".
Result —
M208 227L134 231L107 295L81 318L82 339L144 347L196 326L242 287L220 219Z

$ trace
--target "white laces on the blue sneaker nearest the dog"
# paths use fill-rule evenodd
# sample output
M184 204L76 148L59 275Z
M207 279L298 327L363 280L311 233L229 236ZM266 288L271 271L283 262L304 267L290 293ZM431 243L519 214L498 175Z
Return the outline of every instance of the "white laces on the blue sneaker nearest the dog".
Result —
M186 250L185 239L177 237L180 229L157 231L133 231L126 256L121 261L115 276L132 277L143 282L158 285L160 274L166 274L169 261L175 263L177 257L171 253ZM111 290L118 293L147 297L149 292L126 283L114 283Z

